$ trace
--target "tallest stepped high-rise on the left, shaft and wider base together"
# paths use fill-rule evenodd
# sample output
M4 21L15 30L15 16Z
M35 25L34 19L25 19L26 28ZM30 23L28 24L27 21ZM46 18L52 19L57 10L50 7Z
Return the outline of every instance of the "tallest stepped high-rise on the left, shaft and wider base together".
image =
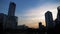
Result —
M6 29L7 28L12 28L12 29L17 28L18 18L15 16L15 7L16 7L16 4L14 2L10 2L8 17L7 17L7 21L6 21Z

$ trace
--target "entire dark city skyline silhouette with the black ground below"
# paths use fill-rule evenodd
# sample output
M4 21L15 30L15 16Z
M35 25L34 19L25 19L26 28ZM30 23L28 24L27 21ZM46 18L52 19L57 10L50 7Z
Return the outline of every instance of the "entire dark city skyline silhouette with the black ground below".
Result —
M15 16L14 2L10 2L8 15L0 13L0 34L60 34L60 6L57 7L57 18L53 20L52 12L45 13L46 26L39 22L39 28L29 28L17 25L18 17Z

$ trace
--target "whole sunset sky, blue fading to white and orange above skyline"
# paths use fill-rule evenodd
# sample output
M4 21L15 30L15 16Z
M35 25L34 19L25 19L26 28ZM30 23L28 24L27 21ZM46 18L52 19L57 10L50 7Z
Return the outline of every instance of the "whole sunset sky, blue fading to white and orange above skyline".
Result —
M9 3L16 4L15 16L18 17L18 25L27 25L38 28L38 23L46 26L45 13L51 11L53 19L57 16L57 7L60 0L0 0L0 13L8 15Z

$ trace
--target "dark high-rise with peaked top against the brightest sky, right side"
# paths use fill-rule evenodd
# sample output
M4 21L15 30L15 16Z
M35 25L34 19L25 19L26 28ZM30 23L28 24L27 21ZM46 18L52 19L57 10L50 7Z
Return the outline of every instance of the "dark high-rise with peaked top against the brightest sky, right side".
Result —
M46 27L52 27L53 26L53 17L52 13L50 11L47 11L45 13L45 20L46 20Z

